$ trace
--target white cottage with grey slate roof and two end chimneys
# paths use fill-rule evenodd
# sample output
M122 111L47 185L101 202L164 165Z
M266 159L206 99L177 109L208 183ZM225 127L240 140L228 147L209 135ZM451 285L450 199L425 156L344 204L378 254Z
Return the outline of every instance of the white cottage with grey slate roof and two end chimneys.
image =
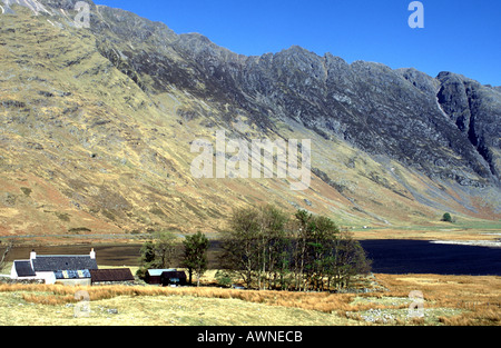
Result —
M96 252L89 255L37 255L30 252L29 260L12 264L12 279L43 279L46 284L56 281L68 285L90 285L90 270L98 269Z

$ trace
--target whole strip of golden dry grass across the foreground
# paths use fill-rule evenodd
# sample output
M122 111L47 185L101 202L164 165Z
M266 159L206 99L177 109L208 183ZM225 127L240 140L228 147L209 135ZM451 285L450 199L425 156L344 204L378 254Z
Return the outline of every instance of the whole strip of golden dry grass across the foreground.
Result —
M501 325L501 277L375 275L387 290L363 295L151 286L0 285L9 326ZM75 298L89 295L90 311ZM410 316L424 297L424 317ZM77 316L76 316L77 314Z

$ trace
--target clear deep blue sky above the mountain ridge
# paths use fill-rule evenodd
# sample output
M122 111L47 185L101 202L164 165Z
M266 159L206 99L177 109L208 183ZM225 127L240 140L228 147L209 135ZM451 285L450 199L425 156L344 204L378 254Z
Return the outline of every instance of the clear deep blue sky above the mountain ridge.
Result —
M199 32L246 56L293 44L323 56L452 71L501 86L501 1L422 0L424 28L407 24L412 0L95 0Z

